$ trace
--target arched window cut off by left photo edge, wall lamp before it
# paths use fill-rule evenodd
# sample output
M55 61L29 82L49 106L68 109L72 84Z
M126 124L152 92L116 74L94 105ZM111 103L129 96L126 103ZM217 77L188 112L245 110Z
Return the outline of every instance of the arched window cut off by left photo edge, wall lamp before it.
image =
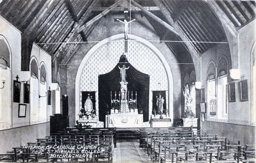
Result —
M11 128L10 58L8 42L0 35L0 130Z

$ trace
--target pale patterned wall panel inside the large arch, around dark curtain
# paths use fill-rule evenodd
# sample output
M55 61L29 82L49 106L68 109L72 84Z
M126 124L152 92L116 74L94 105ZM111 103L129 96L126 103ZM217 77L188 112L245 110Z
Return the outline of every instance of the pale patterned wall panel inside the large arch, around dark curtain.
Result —
M96 91L96 110L98 115L98 75L108 73L116 66L123 53L123 49L123 41L109 42L100 47L84 65L80 78L80 108L81 91ZM152 91L168 90L165 68L150 48L136 41L128 42L127 59L138 71L150 75L149 112L151 113ZM166 99L168 99L168 95ZM165 101L168 102L167 100ZM166 105L168 106L167 103ZM98 123L98 126L103 127L102 123Z

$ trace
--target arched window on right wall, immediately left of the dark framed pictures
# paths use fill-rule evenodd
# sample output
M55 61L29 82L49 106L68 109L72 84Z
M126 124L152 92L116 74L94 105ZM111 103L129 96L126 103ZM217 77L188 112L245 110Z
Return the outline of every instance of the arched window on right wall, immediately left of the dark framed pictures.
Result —
M222 57L218 61L217 73L218 73L217 117L218 119L227 119L228 118L228 107L227 107L228 62L224 57Z

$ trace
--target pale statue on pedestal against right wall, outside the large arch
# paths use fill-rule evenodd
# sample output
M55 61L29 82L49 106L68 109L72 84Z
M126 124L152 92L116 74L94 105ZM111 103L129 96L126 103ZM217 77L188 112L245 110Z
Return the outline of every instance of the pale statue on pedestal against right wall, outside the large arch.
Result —
M193 98L191 97L191 91L188 90L187 87L188 87L188 84L186 84L185 86L185 91L183 90L183 96L185 97L184 117L192 118L192 117L195 117L194 113L191 110Z

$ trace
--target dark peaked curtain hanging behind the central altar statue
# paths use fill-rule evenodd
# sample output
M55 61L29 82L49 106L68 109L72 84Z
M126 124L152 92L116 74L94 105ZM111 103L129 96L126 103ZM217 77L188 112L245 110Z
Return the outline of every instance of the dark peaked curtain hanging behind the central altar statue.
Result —
M129 91L128 99L132 98L131 91L133 91L133 99L135 99L135 91L137 92L137 108L138 112L143 111L143 121L148 121L148 96L149 96L149 87L150 87L150 76L148 74L142 73L136 70L130 63L127 61L125 55L122 55L118 64L114 67L112 71L106 74L100 74L98 77L99 83L99 121L105 123L105 115L107 112L110 112L111 109L111 97L110 92L112 91L112 99L119 100L120 92L120 69L125 65L126 67L130 66L126 70L126 80L128 82L127 90Z

